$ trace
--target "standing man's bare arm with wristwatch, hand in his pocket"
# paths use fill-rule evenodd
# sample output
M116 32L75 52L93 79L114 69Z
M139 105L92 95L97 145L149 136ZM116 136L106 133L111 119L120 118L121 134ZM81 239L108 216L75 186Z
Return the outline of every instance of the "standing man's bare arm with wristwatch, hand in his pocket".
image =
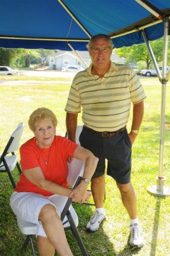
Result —
M141 126L141 122L143 120L143 113L144 113L144 104L143 101L139 103L135 103L133 106L133 120L132 120L132 128L130 133L128 134L130 141L132 144L135 141L135 138L137 134L135 132L132 132L132 130L139 130Z

